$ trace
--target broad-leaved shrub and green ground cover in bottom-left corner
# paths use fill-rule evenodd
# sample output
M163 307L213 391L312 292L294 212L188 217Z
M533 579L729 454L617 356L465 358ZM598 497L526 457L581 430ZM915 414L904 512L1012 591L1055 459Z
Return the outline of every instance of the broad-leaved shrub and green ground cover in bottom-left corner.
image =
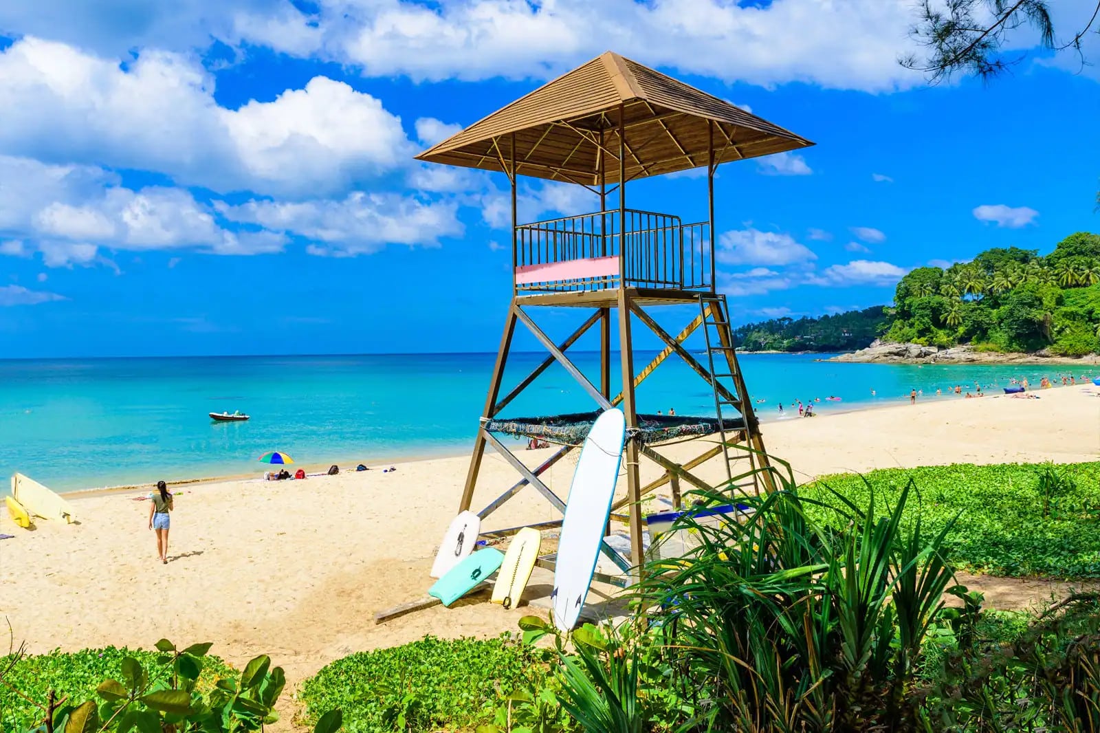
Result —
M278 720L286 679L267 655L238 674L210 644L157 652L85 649L0 658L0 730L34 733L240 733ZM316 733L336 733L339 710Z

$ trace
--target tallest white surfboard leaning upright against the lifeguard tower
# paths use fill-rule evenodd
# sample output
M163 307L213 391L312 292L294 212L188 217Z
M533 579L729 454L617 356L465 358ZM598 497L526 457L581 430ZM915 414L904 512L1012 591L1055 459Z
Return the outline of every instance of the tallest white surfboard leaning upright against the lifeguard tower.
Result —
M569 631L576 624L592 584L600 543L603 541L612 511L625 437L623 411L607 409L596 418L576 461L558 541L553 592L550 594L553 622L562 631Z

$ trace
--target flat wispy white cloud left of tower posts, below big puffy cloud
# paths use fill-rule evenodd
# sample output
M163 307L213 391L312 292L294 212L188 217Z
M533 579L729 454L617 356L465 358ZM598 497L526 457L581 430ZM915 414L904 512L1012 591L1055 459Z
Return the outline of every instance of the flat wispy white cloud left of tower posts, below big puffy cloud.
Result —
M218 205L219 212L231 221L302 237L315 242L307 248L311 254L334 256L367 254L387 243L438 245L440 238L462 233L457 209L453 203L362 192L343 200Z

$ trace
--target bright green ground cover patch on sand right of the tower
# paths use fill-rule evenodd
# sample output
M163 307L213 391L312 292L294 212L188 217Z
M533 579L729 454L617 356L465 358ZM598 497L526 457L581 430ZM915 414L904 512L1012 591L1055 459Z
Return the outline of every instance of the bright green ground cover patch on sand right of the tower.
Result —
M824 477L801 486L809 516L847 522L828 497L843 495L876 512L897 503L912 482L902 527L920 518L930 533L950 525L943 544L957 568L1010 577L1100 578L1100 463L974 466L956 463Z

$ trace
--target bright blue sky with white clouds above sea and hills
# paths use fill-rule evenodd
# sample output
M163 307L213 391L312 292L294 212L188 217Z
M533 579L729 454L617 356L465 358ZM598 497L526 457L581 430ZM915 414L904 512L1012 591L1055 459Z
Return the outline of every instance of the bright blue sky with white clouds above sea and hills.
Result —
M927 88L895 61L909 0L90 4L0 7L0 358L494 350L506 180L411 156L607 48L817 143L719 169L738 321L1100 230L1097 67ZM630 197L705 218L702 178Z

